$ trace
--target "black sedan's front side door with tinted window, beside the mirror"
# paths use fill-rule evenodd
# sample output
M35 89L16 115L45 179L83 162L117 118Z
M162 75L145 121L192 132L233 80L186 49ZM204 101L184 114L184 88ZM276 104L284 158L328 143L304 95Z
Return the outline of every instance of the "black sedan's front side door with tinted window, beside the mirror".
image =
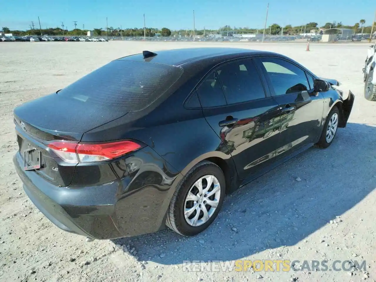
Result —
M323 99L320 93L313 91L313 77L293 62L278 57L261 57L259 66L280 107L280 138L276 151L276 159L280 159L317 141Z

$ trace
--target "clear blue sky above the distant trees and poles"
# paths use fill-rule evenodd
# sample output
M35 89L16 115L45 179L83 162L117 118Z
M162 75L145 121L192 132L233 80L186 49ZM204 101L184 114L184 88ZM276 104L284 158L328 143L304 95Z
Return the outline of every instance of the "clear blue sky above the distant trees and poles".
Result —
M106 4L105 4L106 3ZM223 3L223 4L220 4ZM143 27L143 14L148 27L168 27L170 29L193 29L193 10L195 10L196 29L218 29L229 24L236 27L264 27L268 0L11 0L1 5L1 27L10 29L29 29L31 21L39 28L61 26L63 21L68 29L73 29L73 21L82 29L108 27ZM373 0L270 0L267 25L302 25L311 21L320 26L326 22L341 21L354 24L366 20L371 25L376 9ZM330 4L329 4L330 3ZM335 4L334 4L335 3Z

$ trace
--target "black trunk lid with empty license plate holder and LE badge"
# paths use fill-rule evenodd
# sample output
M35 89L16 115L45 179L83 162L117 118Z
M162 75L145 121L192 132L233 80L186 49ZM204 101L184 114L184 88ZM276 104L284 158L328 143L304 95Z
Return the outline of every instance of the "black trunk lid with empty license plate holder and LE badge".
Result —
M24 103L14 110L17 142L24 170L35 173L58 186L68 186L76 164L62 161L48 145L50 141L79 142L83 133L127 113L51 94Z

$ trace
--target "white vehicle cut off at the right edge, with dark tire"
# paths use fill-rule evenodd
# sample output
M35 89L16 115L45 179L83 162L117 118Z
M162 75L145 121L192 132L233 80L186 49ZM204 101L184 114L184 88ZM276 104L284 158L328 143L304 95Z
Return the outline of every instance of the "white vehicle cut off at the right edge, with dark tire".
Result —
M376 43L368 47L367 59L365 59L364 73L364 97L368 101L376 101L376 67L375 60Z

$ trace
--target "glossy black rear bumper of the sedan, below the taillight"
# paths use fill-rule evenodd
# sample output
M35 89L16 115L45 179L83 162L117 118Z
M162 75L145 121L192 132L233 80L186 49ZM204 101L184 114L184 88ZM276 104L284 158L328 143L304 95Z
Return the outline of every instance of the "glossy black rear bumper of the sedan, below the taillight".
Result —
M152 152L159 156L150 148L144 149L147 152L136 152L138 158L133 158L145 160ZM174 192L171 188L181 179L179 173L143 162L134 174L105 185L58 187L35 171L24 171L19 152L13 161L25 193L45 217L62 230L92 239L135 236L165 228ZM147 179L152 173L154 176Z

